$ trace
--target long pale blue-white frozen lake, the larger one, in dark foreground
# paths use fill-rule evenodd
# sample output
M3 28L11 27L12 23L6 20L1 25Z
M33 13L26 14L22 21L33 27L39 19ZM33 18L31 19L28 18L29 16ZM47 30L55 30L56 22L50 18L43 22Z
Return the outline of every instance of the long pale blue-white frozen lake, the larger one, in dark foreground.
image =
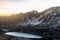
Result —
M23 37L23 38L43 38L42 36L27 34L27 33L20 33L20 32L7 32L6 35L16 36L16 37Z

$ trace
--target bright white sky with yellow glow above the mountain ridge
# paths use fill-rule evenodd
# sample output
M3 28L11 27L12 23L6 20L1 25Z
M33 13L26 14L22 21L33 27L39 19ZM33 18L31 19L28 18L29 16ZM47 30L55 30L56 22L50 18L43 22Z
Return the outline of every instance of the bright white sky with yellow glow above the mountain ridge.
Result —
M0 15L17 14L60 6L60 0L0 0Z

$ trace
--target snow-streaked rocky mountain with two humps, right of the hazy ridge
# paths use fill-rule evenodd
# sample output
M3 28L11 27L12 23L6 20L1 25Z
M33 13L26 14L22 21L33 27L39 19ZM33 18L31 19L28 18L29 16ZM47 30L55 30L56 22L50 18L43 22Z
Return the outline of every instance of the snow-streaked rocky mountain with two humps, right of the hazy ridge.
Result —
M22 22L19 22L17 26L38 26L36 28L56 28L60 26L60 7L52 7L41 13L37 11L31 11L25 13ZM41 29L41 28L40 28Z

